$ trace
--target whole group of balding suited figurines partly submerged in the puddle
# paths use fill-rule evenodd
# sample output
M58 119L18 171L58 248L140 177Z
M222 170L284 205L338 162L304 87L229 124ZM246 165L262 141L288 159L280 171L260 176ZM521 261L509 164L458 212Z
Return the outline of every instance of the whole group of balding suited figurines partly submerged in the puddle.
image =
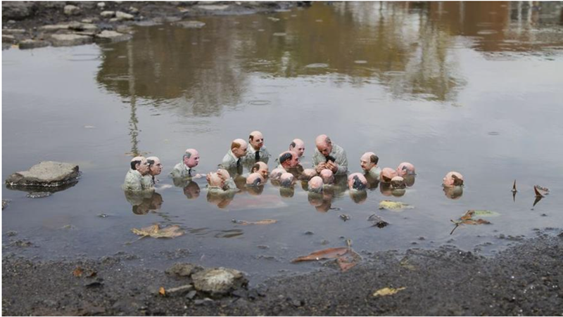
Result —
M412 186L415 181L415 167L409 162L400 163L396 169L378 166L379 157L373 152L364 153L360 157L360 167L363 173L348 174L348 158L346 151L341 146L332 143L327 135L317 136L315 139L315 153L312 156L312 167L304 169L301 160L305 153L305 143L294 139L289 144L289 150L277 157L277 167L270 173L267 162L270 153L264 145L264 137L260 131L251 132L248 143L237 138L215 172L205 175L208 190L213 193L224 193L240 190L241 187L250 192L261 193L261 188L267 179L280 186L280 188L293 188L297 181L302 182L303 189L310 193L323 193L327 187L346 181L350 193L365 193L370 184L381 183L383 186L394 190L398 195L404 194L406 186ZM170 175L177 186L186 185L192 179L203 175L195 171L200 156L197 150L189 148L182 157L182 162L175 165ZM243 174L243 167L248 169ZM162 172L163 165L158 157L134 157L130 169L125 176L123 185L126 192L154 190L155 176ZM186 181L188 181L186 183ZM445 193L449 198L457 198L463 186L463 176L458 172L449 172L443 178ZM281 193L281 191L280 191ZM395 195L395 194L393 194Z

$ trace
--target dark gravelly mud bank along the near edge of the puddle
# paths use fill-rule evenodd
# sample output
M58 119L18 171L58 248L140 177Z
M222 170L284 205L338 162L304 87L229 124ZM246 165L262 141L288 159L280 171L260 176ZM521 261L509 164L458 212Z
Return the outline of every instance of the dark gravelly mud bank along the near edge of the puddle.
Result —
M272 278L226 297L160 287L184 277L127 265L127 256L46 261L6 254L6 315L559 315L563 311L563 233L539 235L481 257L453 247L381 252L340 273ZM72 272L80 266L84 275ZM89 276L96 272L95 276ZM405 287L374 297L384 287Z

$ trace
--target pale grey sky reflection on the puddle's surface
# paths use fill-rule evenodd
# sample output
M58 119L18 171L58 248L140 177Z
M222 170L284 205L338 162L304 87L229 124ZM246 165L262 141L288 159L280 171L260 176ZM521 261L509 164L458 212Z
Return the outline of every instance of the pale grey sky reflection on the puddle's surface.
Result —
M244 34L251 37L253 33ZM563 190L559 181L563 172L559 159L563 148L559 122L562 56L550 53L550 60L543 51L526 51L490 58L474 49L478 39L433 34L426 37L432 43L447 39L446 61L453 65L445 64L450 65L451 72L446 78L462 83L444 101L410 93L410 86L393 90L390 82L378 77L377 71L362 77L354 72L334 71L335 67L330 72L297 77L270 76L268 72L239 67L231 72L243 77L231 83L236 91L234 99L229 97L229 91L216 90L224 82L201 90L199 87L204 84L213 84L209 80L191 87L195 89L191 96L203 96L205 91L223 95L205 99L201 104L184 95L163 98L166 91L160 91L163 96L159 98L149 94L136 99L138 147L141 152L160 157L164 172L158 179L164 185L172 183L166 174L182 159L186 148L199 150L198 172L209 172L220 162L233 138L246 138L255 129L262 131L265 145L274 156L299 137L305 141L305 161L310 161L315 136L326 133L347 150L351 172L359 171L359 157L367 150L379 155L381 167L412 162L417 167L417 181L400 200L416 208L398 214L379 212L392 224L381 231L365 226L367 216L384 199L379 189L369 192L362 205L355 205L344 195L333 202L333 207L340 210L324 214L308 204L307 195L300 188L296 188L293 198L281 199L278 188L267 186L262 196L235 196L232 209L223 210L205 200L205 181L200 179L201 195L197 199L187 200L182 188L162 189L160 215L134 215L120 190L130 159L125 153L132 147L129 90L123 90L120 97L96 81L104 65L100 60L69 60L80 54L107 52L101 53L94 45L4 51L3 178L40 160L77 162L83 176L77 186L41 200L30 200L23 192L3 188L3 197L13 200L3 212L3 231L15 230L22 238L49 246L27 251L30 253L42 254L42 250L48 249L54 256L79 252L101 256L118 250L148 254L189 245L195 254L193 259L205 255L202 264L232 266L236 262L240 269L271 273L268 270L303 269L291 266L291 257L322 248L322 240L328 241L327 247L342 246L341 236L353 238L356 250L405 248L414 240L422 247L442 245L452 238L450 219L467 209L493 209L502 217L491 219L493 226L458 228L453 237L456 240L451 243L466 249L483 240L498 247L502 242L493 236L499 233L531 236L533 228L562 223L561 215L555 213L562 202L557 192ZM420 65L423 56L419 52L425 44L419 43L412 49L412 58L405 63L405 77L413 73L411 67L417 68L413 63ZM280 56L290 59L291 53ZM232 58L230 63L239 66L238 61ZM287 63L291 64L291 60ZM140 67L135 73L142 74L142 64L134 65ZM202 66L205 78L220 77L220 72L213 73L212 66L213 63ZM127 67L116 70L117 75L126 72ZM160 67L159 80L165 72ZM201 72L194 69L183 74ZM186 82L198 78L203 77L191 77ZM167 83L170 82L173 81ZM408 82L399 81L402 85ZM151 87L161 88L158 84ZM222 101L232 103L224 107ZM213 108L207 108L208 103ZM274 168L273 162L270 160L270 170ZM446 199L441 190L441 179L450 170L462 172L467 181L460 200ZM510 195L514 179L520 190L515 203ZM550 188L552 195L531 211L534 184ZM268 208L261 207L265 202L260 198L270 200L269 205L266 202ZM287 207L270 208L282 205ZM100 213L110 217L96 217ZM538 216L542 213L548 216ZM349 214L351 220L344 223L339 214ZM235 226L232 219L280 221L259 228ZM180 224L198 235L187 234L165 244L141 240L129 248L123 247L122 243L136 238L130 235L130 228L158 221ZM77 230L61 231L66 224ZM243 234L221 238L232 230ZM305 240L305 231L315 235ZM426 242L420 242L419 236L426 237ZM378 243L374 245L373 241ZM275 254L280 261L263 265L255 259L255 245L269 245L265 254Z

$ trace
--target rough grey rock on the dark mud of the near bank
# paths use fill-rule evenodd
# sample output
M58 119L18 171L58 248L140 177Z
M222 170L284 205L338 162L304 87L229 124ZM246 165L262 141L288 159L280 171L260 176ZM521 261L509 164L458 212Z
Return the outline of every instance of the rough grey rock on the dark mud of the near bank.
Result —
M211 295L226 295L239 287L248 284L248 280L240 271L234 269L205 269L191 276L196 290Z

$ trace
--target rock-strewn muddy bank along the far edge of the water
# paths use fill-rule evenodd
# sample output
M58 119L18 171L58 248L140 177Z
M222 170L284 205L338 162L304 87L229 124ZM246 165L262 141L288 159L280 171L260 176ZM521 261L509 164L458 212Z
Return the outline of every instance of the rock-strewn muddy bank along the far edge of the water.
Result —
M124 41L133 25L204 15L270 13L310 1L12 1L2 3L2 49ZM188 27L202 27L192 21Z

